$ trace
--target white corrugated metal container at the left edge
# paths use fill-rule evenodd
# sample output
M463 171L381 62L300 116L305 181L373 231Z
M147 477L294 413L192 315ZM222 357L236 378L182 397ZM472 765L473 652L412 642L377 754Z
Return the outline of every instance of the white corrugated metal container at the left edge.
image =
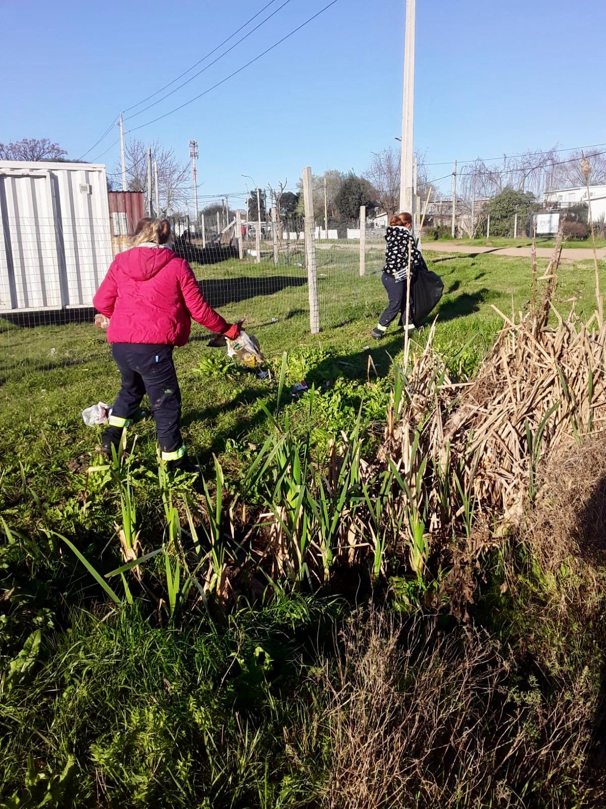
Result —
M0 160L0 312L90 307L112 262L105 166Z

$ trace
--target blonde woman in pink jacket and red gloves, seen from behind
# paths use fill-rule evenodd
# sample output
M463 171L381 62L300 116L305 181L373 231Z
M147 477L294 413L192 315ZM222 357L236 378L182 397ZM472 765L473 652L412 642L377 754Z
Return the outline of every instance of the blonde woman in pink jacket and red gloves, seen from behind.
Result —
M112 455L147 392L162 460L173 470L193 471L180 432L173 348L187 343L191 318L231 339L239 327L208 306L191 267L170 249L169 240L170 222L141 219L133 247L116 256L93 299L95 309L110 319L107 341L122 377L101 450Z

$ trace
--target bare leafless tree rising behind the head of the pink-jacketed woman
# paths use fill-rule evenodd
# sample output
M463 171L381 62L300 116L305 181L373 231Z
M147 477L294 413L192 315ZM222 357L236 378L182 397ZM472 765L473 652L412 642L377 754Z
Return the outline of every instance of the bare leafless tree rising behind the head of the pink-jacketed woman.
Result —
M175 155L175 150L164 149L158 142L151 144L150 148L152 162L155 160L158 163L160 198L165 201L163 211L175 214L183 210L183 205L191 196L189 163L181 163ZM142 141L133 139L124 144L128 190L142 191L145 194L145 205L147 205L147 150L148 146ZM118 183L120 177L121 167L117 164L112 179Z

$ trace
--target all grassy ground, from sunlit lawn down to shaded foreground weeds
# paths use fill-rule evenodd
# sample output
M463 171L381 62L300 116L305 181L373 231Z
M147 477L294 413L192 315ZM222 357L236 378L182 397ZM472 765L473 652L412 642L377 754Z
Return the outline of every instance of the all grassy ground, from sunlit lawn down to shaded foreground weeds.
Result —
M288 540L308 519L338 529L339 489L325 481L341 481L345 464L329 462L333 442L356 447L361 433L372 462L402 392L392 362L402 332L370 337L385 305L381 260L369 251L360 278L356 248L318 251L319 335L296 253L278 268L196 267L226 319L246 318L271 370L260 379L236 368L197 326L175 351L204 493L158 473L149 418L129 431L129 449L138 438L122 466L87 474L99 430L81 411L111 403L119 385L102 332L2 327L2 809L602 805L604 768L587 750L590 731L594 746L604 735L603 571L545 571L517 537L479 553L474 536L456 536L456 565L436 552L414 575L397 525L376 545L375 574L372 554L366 566L331 560L318 587L305 567L297 578L263 566L272 514ZM526 307L529 262L427 260L444 280L436 349L465 381L501 328L493 306ZM593 272L591 261L562 265L562 314L573 299L591 314ZM291 396L302 379L313 389ZM368 505L374 537L401 509L385 507L383 489L365 501L360 480L346 480L347 509ZM141 578L137 559L124 565L127 539ZM314 534L301 559L321 541ZM221 578L228 547L232 590ZM473 595L462 624L457 588Z

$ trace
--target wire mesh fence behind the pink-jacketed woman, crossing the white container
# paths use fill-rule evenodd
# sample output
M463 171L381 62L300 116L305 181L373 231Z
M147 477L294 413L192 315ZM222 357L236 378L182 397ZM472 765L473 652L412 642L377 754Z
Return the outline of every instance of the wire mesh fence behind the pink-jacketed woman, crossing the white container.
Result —
M294 335L309 332L310 307L317 307L321 331L377 315L385 229L372 222L363 233L359 220L330 219L326 228L317 218L308 227L315 298L304 218L274 214L259 227L241 212L170 222L172 248L191 264L204 297L226 320L244 318L250 328L288 321ZM112 244L99 237L95 222L67 224L53 217L3 218L0 384L44 372L53 372L49 384L61 384L61 368L109 358L104 333L92 325L92 299L111 263Z

